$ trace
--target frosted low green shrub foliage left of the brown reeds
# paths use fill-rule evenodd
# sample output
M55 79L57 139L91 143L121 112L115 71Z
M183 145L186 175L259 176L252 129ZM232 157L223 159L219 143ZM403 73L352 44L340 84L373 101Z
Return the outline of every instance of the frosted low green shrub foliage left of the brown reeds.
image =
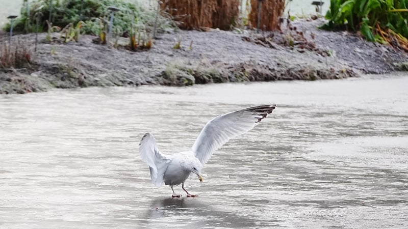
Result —
M100 32L99 21L94 18L104 18L109 21L111 12L108 7L119 8L120 11L115 13L114 28L117 31L129 31L131 24L144 24L150 30L154 25L155 12L148 10L134 3L123 2L119 0L85 0L82 7L81 0L52 0L51 22L53 25L65 27L69 23L76 24L79 21L84 21L82 28L86 34L98 35ZM49 0L30 1L30 15L27 16L27 8L21 8L21 15L14 22L14 30L19 32L35 32L34 14L41 12L40 24L45 31L47 29L46 20L49 18L50 10ZM81 11L82 9L82 11ZM161 18L161 23L158 25L159 32L163 32L165 28L171 27L168 23L170 19ZM6 24L5 30L10 29L10 24Z

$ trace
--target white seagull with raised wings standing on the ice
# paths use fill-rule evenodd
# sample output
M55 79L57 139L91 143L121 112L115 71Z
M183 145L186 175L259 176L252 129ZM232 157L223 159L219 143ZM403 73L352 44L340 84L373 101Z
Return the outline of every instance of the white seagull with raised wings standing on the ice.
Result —
M163 183L169 185L173 191L172 197L182 196L176 194L173 189L174 185L182 184L187 197L197 197L198 195L190 194L184 188L190 174L197 175L202 183L200 171L213 153L231 138L246 133L258 125L275 107L275 104L255 106L217 116L202 128L191 150L172 155L160 153L153 134L144 134L139 151L142 161L149 166L152 183L158 187Z

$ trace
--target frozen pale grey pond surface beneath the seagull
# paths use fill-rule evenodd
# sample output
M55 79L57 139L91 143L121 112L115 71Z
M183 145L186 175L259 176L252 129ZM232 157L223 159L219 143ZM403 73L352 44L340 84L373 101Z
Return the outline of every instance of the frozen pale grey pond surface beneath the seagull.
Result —
M0 227L408 227L408 75L0 96ZM188 150L221 113L276 103L171 198L145 132ZM180 186L176 192L183 193Z

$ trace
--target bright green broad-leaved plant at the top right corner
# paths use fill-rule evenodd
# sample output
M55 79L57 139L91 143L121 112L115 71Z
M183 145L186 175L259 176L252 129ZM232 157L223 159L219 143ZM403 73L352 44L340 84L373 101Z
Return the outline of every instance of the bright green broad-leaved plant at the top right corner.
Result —
M358 31L369 41L384 42L381 31L390 28L408 37L408 0L330 0L329 22L322 28Z

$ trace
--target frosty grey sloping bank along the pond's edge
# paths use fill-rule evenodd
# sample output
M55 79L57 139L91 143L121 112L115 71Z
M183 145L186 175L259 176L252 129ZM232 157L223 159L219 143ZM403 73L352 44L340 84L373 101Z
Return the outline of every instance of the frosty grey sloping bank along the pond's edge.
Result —
M318 30L319 23L323 22L297 21L293 25L318 50L326 50L329 55L296 45L276 43L276 47L271 47L251 42L266 35L241 31L162 34L150 50L137 52L94 44L93 36L64 44L44 42L45 34L40 34L29 67L0 72L0 93L115 85L337 79L396 71L395 63L407 61L405 53L389 46L369 43L344 32ZM60 34L53 36L58 38ZM173 49L179 36L182 48ZM6 39L3 34L0 42ZM34 34L13 37L17 39L34 47ZM125 38L119 41L126 42Z

